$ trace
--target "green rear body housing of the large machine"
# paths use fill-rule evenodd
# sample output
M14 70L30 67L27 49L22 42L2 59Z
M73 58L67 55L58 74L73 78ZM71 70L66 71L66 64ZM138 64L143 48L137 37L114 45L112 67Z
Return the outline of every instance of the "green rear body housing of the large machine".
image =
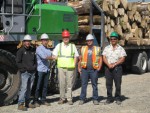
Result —
M30 17L26 24L26 33L47 33L51 39L61 39L63 29L68 29L72 39L78 34L78 18L72 7L55 4L35 5L33 15L40 14L41 17Z

